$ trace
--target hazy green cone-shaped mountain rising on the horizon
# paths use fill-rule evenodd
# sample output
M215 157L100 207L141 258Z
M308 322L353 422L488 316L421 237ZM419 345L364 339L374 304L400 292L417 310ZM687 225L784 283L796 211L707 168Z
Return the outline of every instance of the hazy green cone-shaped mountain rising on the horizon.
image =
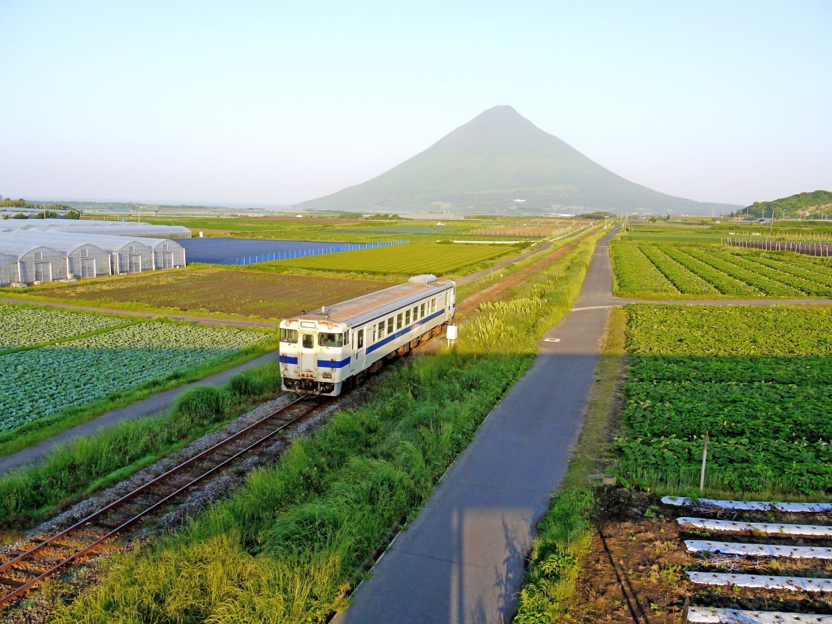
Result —
M494 106L380 176L297 207L359 212L568 209L710 214L739 206L686 200L627 181L542 131L512 106Z

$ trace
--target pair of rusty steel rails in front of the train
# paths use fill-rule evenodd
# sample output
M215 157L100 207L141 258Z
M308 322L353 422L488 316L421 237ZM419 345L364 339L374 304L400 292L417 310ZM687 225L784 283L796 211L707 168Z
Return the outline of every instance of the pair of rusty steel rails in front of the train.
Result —
M303 402L307 399L308 398L305 397L305 396L300 397L299 399L295 399L290 404L285 405L284 407L277 410L276 412L274 412L272 414L269 414L268 416L265 416L264 418L260 418L260 420L258 420L257 422L252 423L252 424L250 424L249 426L247 426L243 429L240 429L240 431L238 431L237 433L234 433L234 434L230 435L228 438L220 440L219 443L215 443L213 446L211 446L210 448L206 448L206 450L202 451L201 453L197 453L193 457L186 459L184 462L177 464L174 468L171 468L166 473L162 473L158 477L151 479L151 481L148 481L147 483L142 484L140 487L132 490L130 493L125 494L124 496L122 496L118 500L114 501L113 503L109 503L105 507L99 509L97 512L91 513L89 516L87 516L87 518L83 518L82 520L79 520L78 522L73 524L71 527L68 527L68 528L64 529L62 532L56 533L52 537L49 537L48 539L38 543L36 546L30 548L26 552L22 552L20 555L17 555L17 557L14 557L14 558L10 559L9 561L0 564L0 572L2 572L3 570L7 570L9 567L12 567L15 563L27 561L28 559L32 558L32 556L35 555L37 552L42 550L42 548L47 547L50 544L54 544L61 537L65 537L68 534L77 531L77 529L79 529L81 527L84 527L89 522L92 522L92 520L94 520L96 518L100 518L103 514L109 512L113 508L116 508L117 506L121 505L121 503L125 503L126 501L130 500L131 498L135 498L139 493L144 492L147 488L150 488L151 485L159 483L162 479L170 476L171 474L180 472L182 468L186 468L186 466L189 466L189 465L191 465L191 463L194 463L197 460L206 457L206 455L208 455L210 453L213 453L215 450L217 450L219 448L222 448L226 444L234 442L237 439L240 439L242 436L245 435L245 433L249 433L253 429L255 429L257 427L260 427L261 425L263 425L264 423L266 423L270 419L275 418L275 416L283 414L286 410L290 409L291 407L295 406L296 404L299 404L299 403L301 403L301 402ZM57 562L54 566L49 568L46 572L42 572L39 576L37 576L35 578L32 578L31 580L29 580L27 582L22 583L19 587L16 587L15 589L13 589L12 592L7 593L7 595L5 595L3 597L0 597L0 605L3 605L6 602L9 602L10 600L12 600L13 598L16 598L16 597L22 595L23 593L27 592L34 585L36 585L37 582L40 582L44 578L52 576L52 574L57 572L59 569L61 569L62 567L67 566L67 564L69 564L69 563L72 563L78 557L82 557L82 555L87 554L87 552L90 552L94 547L97 547L102 542L106 542L108 539L111 539L111 537L115 537L118 533L124 531L127 527L130 527L132 524L134 524L135 522L137 522L141 518L144 518L148 513L151 513L154 509L161 507L161 505L167 503L172 498L176 498L176 496L178 496L182 492L186 491L189 488L192 488L196 483L201 482L203 479L205 479L205 478L209 477L210 475L216 473L221 468L224 468L225 466L227 466L229 463L234 462L235 459L240 458L245 453L249 453L251 449L253 449L257 446L260 446L260 444L265 443L270 438L275 437L275 435L277 433L280 433L285 428L290 427L292 424L297 423L298 421L302 420L303 418L306 418L309 414L314 412L314 410L317 409L318 406L319 406L318 404L314 404L310 407L310 409L306 409L302 414L300 414L298 416L295 416L294 418L291 418L290 420L286 421L285 423L280 423L280 425L277 428L274 428L269 433L266 433L261 438L258 438L255 442L250 443L248 446L246 446L245 448L243 448L240 451L237 451L236 453L231 455L229 458L226 458L222 462L213 466L212 468L209 468L208 470L206 470L206 472L201 473L198 477L191 479L190 482L188 482L185 485L177 488L175 492L167 494L164 498L161 498L160 500L156 501L156 503L152 503L151 505L149 505L145 509L141 510L141 512L136 513L131 518L127 519L124 522L121 522L121 524L119 524L119 526L111 529L111 531L107 532L106 535L97 538L94 542L88 544L86 547L83 547L80 550L77 550L77 552L73 552L72 555L70 555L69 557L66 557L61 562Z

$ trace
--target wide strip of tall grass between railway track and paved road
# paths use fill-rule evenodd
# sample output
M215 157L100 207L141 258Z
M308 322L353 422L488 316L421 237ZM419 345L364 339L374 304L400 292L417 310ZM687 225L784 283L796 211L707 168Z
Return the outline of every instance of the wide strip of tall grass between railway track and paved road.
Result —
M457 346L412 359L181 533L111 562L58 622L323 622L362 563L412 517L535 340L577 298L595 240L483 305Z

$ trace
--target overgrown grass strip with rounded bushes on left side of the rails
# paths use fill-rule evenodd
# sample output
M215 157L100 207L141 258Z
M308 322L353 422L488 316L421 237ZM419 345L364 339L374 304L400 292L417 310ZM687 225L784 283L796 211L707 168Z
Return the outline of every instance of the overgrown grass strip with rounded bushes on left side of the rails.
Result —
M168 414L126 421L63 444L45 463L0 477L0 527L30 526L279 393L278 365L263 364L235 374L219 389L197 386L187 390Z

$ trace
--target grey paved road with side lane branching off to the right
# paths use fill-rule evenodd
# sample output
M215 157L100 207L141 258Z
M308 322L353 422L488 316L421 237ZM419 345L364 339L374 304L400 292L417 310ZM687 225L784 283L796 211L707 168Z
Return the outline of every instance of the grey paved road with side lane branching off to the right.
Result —
M493 409L406 531L334 618L353 622L505 622L535 528L583 424L612 295L598 242L572 312L538 341L532 368ZM535 265L532 265L535 266ZM530 267L531 268L531 267ZM504 289L503 289L504 290ZM822 305L830 300L672 300L674 305ZM465 302L468 304L468 301ZM464 304L463 304L464 306Z

